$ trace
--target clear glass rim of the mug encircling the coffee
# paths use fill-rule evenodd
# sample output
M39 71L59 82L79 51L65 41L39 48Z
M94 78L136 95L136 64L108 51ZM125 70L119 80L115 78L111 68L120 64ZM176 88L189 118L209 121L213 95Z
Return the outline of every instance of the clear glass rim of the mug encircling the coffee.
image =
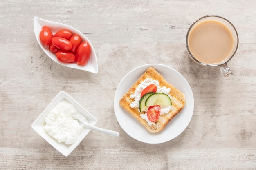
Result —
M217 64L217 65L214 65L214 64L205 64L205 63L202 63L202 62L198 61L198 60L192 55L192 53L191 53L190 50L189 50L188 37L189 37L189 33L190 33L191 29L193 28L193 26L194 26L198 21L200 21L200 20L202 20L202 19L204 19L204 18L209 18L209 17L220 18L220 19L222 19L222 20L227 21L227 22L231 25L231 27L234 29L234 31L235 31L235 33L236 33L236 38L237 38L237 44L236 44L236 49L235 49L234 53L229 57L229 59L228 59L227 61L225 61L225 62L223 62L223 63L220 63L220 64ZM223 24L224 24L224 23L223 23ZM225 25L226 25L226 24L225 24ZM193 24L191 24L191 26L189 27L189 29L188 29L188 31L187 31L187 34L186 34L186 49L187 49L189 55L193 58L193 60L194 60L195 62L197 62L198 64L201 64L201 65L203 65L203 66L217 67L217 66L222 66L222 65L224 65L224 64L227 64L227 62L229 62L229 61L231 60L231 58L233 58L234 55L236 54L236 51L237 51L237 49L238 49L238 43L239 43L239 38L238 38L238 33L237 33L237 31L236 31L235 26L234 26L229 20L227 20L226 18L224 18L224 17L222 17L222 16L218 16L218 15L205 15L205 16L203 16L203 17L198 18L197 20L195 20L195 21L193 22Z

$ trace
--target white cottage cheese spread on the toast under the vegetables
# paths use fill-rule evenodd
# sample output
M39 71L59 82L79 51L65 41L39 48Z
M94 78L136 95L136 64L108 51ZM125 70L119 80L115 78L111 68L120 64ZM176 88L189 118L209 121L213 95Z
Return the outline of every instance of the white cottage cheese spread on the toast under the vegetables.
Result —
M168 95L171 99L171 96L169 95L169 93L171 91L170 88L166 88L165 86L160 87L159 82L157 80L147 78L139 84L139 86L136 88L134 94L130 95L130 98L134 99L134 101L130 104L131 108L136 108L137 107L138 110L139 110L139 100L140 100L141 92L150 84L155 84L155 86L157 86L157 91L156 91L157 93L164 93L164 94ZM160 106L160 107L161 107L161 109L160 109L161 115L163 115L165 113L168 113L171 110L171 106ZM148 122L149 126L151 126L152 124L155 125L154 122L151 122L151 121L148 120L147 113L141 113L140 117L142 119L145 119Z

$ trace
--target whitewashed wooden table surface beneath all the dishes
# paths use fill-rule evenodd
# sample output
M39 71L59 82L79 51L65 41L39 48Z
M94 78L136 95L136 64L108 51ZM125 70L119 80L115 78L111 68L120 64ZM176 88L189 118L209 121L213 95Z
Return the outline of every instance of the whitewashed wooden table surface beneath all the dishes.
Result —
M256 2L254 0L2 0L0 1L1 170L255 170ZM234 72L202 67L186 52L189 26L204 15L230 20L239 35ZM81 31L96 51L99 73L52 61L36 41L33 18ZM145 144L118 124L113 100L121 79L144 64L179 71L194 95L188 127L175 139ZM116 130L92 130L63 156L31 124L65 91Z

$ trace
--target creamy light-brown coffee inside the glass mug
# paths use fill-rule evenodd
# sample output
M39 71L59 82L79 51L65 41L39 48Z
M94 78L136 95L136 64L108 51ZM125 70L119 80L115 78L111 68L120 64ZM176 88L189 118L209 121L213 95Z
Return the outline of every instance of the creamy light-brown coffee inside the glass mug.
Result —
M234 38L229 28L216 20L198 22L188 35L189 51L201 63L220 64L234 49Z

